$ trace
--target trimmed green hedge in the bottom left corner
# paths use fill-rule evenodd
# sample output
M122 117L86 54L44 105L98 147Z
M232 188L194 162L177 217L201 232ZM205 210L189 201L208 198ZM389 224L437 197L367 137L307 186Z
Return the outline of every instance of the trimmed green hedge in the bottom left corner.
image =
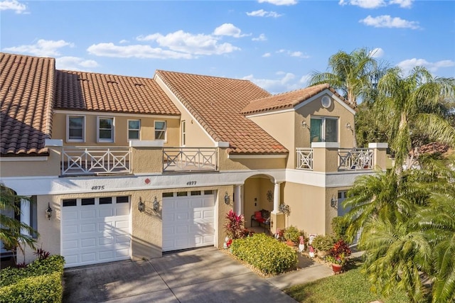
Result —
M62 302L61 255L35 260L26 268L0 270L0 302Z

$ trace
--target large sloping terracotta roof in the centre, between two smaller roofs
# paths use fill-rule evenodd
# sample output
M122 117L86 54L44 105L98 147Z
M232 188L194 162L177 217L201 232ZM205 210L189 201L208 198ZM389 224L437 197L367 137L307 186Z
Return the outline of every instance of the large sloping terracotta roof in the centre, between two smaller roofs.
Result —
M156 76L181 100L213 140L230 143L228 153L288 153L269 133L240 114L250 101L270 96L264 89L240 79L164 70L157 70Z

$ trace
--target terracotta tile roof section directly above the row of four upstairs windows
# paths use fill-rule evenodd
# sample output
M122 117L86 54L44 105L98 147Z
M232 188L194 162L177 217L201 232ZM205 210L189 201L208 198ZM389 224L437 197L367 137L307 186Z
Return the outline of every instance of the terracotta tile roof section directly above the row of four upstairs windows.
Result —
M55 109L180 115L154 79L58 70Z

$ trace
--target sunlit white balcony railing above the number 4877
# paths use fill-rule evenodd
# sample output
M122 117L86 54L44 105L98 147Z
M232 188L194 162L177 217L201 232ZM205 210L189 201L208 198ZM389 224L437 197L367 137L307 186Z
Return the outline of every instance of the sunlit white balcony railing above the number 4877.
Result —
M217 148L163 148L163 172L218 170Z

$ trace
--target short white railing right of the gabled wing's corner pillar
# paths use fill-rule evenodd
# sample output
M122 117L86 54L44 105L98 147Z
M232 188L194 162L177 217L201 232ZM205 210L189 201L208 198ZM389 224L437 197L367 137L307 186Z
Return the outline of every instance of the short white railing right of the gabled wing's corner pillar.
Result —
M338 159L338 170L373 170L373 150L368 148L341 148Z

